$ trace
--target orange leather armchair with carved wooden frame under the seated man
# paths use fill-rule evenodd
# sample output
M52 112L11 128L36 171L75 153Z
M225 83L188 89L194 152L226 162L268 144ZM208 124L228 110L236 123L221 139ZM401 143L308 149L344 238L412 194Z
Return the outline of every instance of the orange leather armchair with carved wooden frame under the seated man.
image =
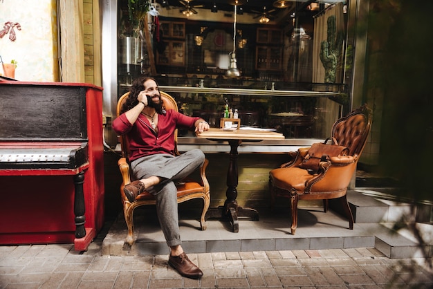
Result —
M128 95L129 93L125 93L124 95L122 95L122 97L120 97L117 105L117 115L120 115L120 110ZM176 101L172 96L168 95L167 93L164 93L163 91L160 91L160 95L161 98L163 99L165 110L175 109L176 111L178 111ZM174 140L176 145L175 151L177 154L179 154L177 150L177 129L174 133ZM120 136L120 145L122 147L122 158L118 160L118 165L123 180L122 185L120 185L120 195L122 196L123 213L125 214L125 221L128 227L128 235L127 235L126 242L129 245L132 245L134 242L133 239L134 209L142 205L155 205L156 201L154 196L152 194L149 194L149 192L142 192L137 196L136 200L133 201L132 203L128 201L128 198L125 196L125 192L123 192L123 187L131 183L131 175L129 173L130 167L128 163L129 143L127 141L126 136ZM203 198L204 205L203 205L203 211L201 212L201 218L200 218L201 230L206 230L205 214L206 212L208 212L210 206L210 188L209 188L208 179L206 178L205 175L206 167L208 167L208 160L205 160L203 166L200 168L200 176L201 176L200 183L194 180L186 179L183 180L182 183L176 185L178 189L178 193L177 193L178 203L183 203L193 198Z

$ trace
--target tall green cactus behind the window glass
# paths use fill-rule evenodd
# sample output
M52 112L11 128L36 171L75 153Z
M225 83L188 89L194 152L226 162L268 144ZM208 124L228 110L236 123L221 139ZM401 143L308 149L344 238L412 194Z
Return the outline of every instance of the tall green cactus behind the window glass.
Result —
M325 68L325 83L335 83L338 59L343 44L342 32L337 32L335 22L335 16L332 15L328 17L327 37L320 45L320 61L322 61L323 67Z

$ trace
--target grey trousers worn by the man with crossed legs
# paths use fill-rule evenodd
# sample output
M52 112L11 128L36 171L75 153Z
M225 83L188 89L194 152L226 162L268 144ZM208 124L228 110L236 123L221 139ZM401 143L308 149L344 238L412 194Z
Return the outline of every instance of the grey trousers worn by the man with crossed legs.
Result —
M194 170L203 165L204 161L203 151L192 149L182 153L181 156L156 153L131 162L133 178L136 180L150 176L158 176L163 179L161 183L149 187L147 191L156 198L156 214L158 214L158 220L169 247L182 243L175 182L192 174Z

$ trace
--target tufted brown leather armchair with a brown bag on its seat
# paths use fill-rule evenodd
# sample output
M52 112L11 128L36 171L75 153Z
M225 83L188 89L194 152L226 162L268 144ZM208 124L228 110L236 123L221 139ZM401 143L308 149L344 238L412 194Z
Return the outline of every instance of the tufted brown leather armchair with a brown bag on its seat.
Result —
M277 196L291 199L291 234L294 235L297 228L299 200L324 200L326 212L328 200L340 198L349 217L349 228L353 230L353 215L346 197L347 186L367 142L371 118L371 110L365 105L333 124L332 136L338 141L338 145L349 148L349 154L321 161L319 173L309 174L306 169L298 167L308 153L308 148L290 152L290 162L270 171L271 207L274 207Z

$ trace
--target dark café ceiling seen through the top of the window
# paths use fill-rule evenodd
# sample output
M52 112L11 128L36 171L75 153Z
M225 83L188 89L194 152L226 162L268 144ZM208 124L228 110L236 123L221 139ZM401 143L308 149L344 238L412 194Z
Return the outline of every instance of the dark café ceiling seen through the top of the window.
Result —
M156 0L161 6L168 6L170 8L178 8L184 9L184 3L187 3L192 9L209 9L211 10L214 4L218 11L227 11L233 12L235 0ZM238 12L239 8L242 8L245 13L252 14L261 14L266 10L269 15L275 15L279 12L283 12L286 9L295 10L295 7L298 6L298 9L304 10L306 6L312 1L302 0L302 1L288 1L288 0L238 0ZM313 1L314 2L314 1ZM284 3L285 8L279 8L279 6Z

